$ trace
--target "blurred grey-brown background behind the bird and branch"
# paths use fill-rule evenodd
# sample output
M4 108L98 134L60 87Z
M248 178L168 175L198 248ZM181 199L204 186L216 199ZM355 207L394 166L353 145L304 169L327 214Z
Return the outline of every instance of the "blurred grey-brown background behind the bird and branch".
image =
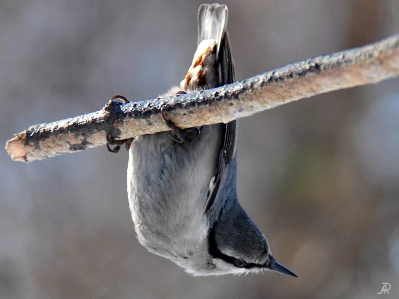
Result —
M201 1L0 1L0 140L179 84ZM225 0L236 78L399 32L398 0ZM238 192L275 273L193 278L137 241L128 153L0 151L0 298L399 298L399 79L239 121Z

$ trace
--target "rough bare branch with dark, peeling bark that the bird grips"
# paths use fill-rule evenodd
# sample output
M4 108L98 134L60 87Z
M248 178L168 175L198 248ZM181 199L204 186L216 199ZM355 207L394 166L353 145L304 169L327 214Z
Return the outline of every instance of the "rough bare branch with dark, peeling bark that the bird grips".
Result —
M57 122L31 126L7 141L16 161L30 162L106 144L117 139L170 130L160 110L181 128L250 116L314 95L378 83L399 75L399 34L379 42L289 64L247 80L176 97L120 104Z

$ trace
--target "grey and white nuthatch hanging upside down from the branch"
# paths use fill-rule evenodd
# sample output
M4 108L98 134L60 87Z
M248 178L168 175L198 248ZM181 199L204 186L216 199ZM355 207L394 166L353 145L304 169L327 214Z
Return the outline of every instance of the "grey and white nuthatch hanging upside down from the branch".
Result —
M234 81L227 15L225 5L200 5L193 63L164 96ZM172 135L139 136L130 146L127 189L139 242L196 276L273 270L296 277L275 261L238 202L236 121L183 130L162 115Z

